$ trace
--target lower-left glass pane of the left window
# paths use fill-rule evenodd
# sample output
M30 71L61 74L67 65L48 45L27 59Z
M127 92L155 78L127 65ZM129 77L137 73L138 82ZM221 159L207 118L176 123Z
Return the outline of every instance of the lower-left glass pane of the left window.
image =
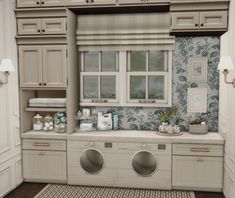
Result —
M84 99L98 99L98 76L83 77L83 97Z

